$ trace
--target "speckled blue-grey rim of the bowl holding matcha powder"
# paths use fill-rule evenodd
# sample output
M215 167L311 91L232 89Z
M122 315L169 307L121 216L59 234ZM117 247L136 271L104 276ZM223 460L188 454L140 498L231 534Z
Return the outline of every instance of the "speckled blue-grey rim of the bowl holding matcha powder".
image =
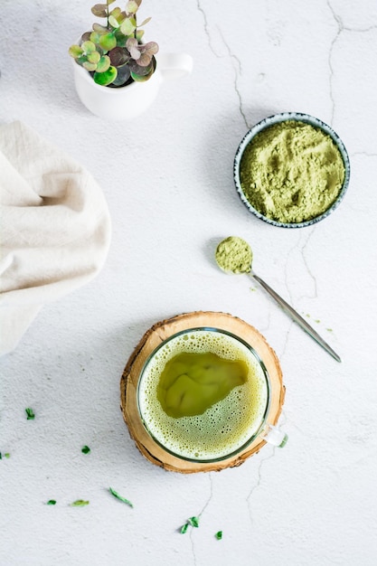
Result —
M306 124L310 124L311 126L320 127L325 134L328 134L335 142L335 145L338 147L341 156L344 161L344 183L342 185L341 191L336 198L335 203L333 203L325 212L316 216L316 218L312 218L305 222L278 222L267 218L260 212L258 212L248 201L245 194L243 193L242 187L240 185L240 160L243 155L243 152L250 144L250 141L253 137L255 137L259 132L266 127L272 126L273 124L278 124L279 122L285 122L286 120L297 120L300 122L306 122ZM300 112L281 112L279 114L273 114L268 118L264 118L258 124L251 127L247 134L241 139L240 145L238 146L236 155L234 156L233 162L233 178L234 183L236 185L237 193L240 195L240 200L244 203L247 208L252 212L255 216L257 216L260 220L264 222L268 222L273 226L279 226L280 228L303 228L305 226L312 226L316 222L324 220L331 212L334 212L335 209L339 206L339 204L344 199L344 194L348 189L348 184L350 181L350 173L351 173L351 166L350 166L350 159L348 157L347 150L345 149L344 143L341 138L336 134L334 129L319 118L315 118L314 116L310 116L309 114L304 114Z

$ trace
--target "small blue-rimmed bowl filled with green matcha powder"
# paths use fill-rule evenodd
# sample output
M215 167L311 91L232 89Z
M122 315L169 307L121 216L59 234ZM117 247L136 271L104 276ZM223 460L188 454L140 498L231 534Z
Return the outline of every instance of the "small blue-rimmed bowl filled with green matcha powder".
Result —
M261 220L285 228L323 220L342 201L349 177L349 158L334 130L296 112L252 127L234 159L242 202Z

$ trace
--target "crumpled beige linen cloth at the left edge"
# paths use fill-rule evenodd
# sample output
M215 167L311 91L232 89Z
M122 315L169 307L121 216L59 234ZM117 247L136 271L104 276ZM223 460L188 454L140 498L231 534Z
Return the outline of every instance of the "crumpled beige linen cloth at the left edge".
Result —
M0 355L43 303L90 281L110 241L108 206L81 165L21 122L0 126Z

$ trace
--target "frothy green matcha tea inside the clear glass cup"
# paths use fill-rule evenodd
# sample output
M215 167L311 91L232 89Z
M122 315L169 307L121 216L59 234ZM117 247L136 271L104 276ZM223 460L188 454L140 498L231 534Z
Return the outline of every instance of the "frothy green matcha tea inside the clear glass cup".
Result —
M259 429L268 407L266 376L235 337L191 330L146 364L138 403L150 434L181 458L226 458Z

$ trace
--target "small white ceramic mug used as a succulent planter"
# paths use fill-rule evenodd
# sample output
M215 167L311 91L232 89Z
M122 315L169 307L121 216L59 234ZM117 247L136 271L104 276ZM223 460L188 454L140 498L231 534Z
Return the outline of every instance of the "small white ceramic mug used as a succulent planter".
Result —
M193 58L186 53L162 53L156 61L156 71L149 80L118 89L100 86L88 71L72 61L75 87L82 104L99 118L117 121L136 118L150 107L165 80L179 79L193 70Z

